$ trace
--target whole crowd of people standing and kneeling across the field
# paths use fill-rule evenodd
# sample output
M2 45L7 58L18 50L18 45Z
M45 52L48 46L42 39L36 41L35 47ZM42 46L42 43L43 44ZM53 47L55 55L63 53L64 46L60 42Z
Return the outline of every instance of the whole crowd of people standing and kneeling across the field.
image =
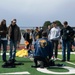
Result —
M15 54L17 44L21 40L21 31L19 26L16 24L17 20L13 19L11 24L7 27L6 20L3 19L0 23L0 49L3 47L2 59L4 62L7 61L6 51L8 40L10 42L9 60L15 62ZM62 39L62 61L70 61L70 47L74 42L75 32L68 25L67 21L64 21L63 28L60 29L57 23L54 21L52 25L48 25L47 30L36 27L35 31L29 29L26 30L23 37L25 41L28 41L27 49L31 46L34 41L34 63L38 66L38 60L41 61L41 67L49 66L51 57L58 57L58 44L59 40ZM74 43L73 43L74 44ZM74 44L75 45L75 44ZM13 48L14 47L14 48ZM66 57L67 48L67 57Z

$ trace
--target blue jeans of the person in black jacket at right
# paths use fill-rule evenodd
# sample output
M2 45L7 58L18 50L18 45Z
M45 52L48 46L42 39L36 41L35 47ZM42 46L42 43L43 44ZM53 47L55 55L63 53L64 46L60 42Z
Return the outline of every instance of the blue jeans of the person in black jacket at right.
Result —
M62 40L62 60L66 60L66 48L67 48L67 61L70 60L70 41Z

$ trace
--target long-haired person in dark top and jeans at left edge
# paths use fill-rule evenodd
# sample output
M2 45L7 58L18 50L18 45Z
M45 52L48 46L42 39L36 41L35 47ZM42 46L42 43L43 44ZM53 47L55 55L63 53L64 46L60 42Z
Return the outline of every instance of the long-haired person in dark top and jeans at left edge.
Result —
M3 45L3 54L2 54L2 59L4 62L7 61L6 58L6 51L7 51L7 26L6 26L6 20L3 19L0 24L0 49L1 45Z

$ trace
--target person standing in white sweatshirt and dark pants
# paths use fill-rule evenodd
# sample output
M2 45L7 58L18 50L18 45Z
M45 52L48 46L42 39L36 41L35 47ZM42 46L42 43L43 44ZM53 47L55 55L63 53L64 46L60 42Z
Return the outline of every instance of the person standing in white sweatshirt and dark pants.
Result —
M49 33L49 39L52 41L53 43L53 48L54 48L54 56L57 59L58 56L58 42L60 39L60 28L57 26L56 22L52 23L53 27L50 30Z

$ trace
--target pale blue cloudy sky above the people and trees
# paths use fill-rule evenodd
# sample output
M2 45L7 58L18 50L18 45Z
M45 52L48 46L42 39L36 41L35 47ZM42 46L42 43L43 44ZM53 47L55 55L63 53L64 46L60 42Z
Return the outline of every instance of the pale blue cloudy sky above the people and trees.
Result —
M75 0L0 0L0 21L13 18L20 27L43 26L45 21L68 21L75 26Z

